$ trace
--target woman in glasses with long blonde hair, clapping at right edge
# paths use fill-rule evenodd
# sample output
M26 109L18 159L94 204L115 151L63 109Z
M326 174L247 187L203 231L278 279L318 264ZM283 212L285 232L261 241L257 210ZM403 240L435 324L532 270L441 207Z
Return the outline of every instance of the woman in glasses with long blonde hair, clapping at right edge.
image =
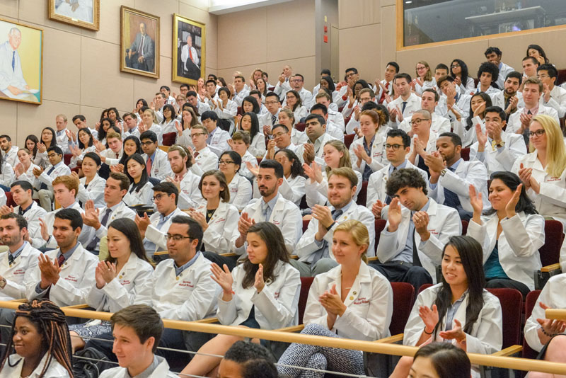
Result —
M531 147L511 171L521 178L538 214L562 222L566 233L566 148L558 122L537 115L529 125Z

